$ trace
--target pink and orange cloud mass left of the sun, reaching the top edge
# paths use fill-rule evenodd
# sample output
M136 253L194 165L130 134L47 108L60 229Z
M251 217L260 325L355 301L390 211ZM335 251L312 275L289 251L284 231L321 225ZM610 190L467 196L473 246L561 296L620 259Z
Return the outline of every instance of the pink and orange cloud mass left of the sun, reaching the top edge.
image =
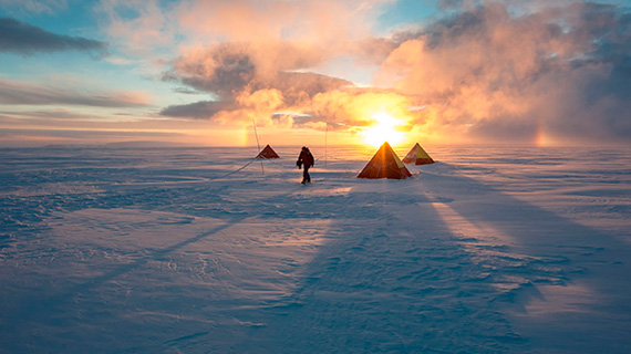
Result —
M117 38L131 38L122 34L133 32L138 33L133 41L144 43L153 38L185 39L163 80L215 98L172 105L161 115L237 124L249 124L257 116L273 124L275 110L310 110L316 95L352 85L310 70L363 51L359 42L370 39L368 14L380 2L187 1L162 10L153 2L146 8L132 2L134 15L125 19L123 10L130 6L107 0L102 10L112 19L108 29Z

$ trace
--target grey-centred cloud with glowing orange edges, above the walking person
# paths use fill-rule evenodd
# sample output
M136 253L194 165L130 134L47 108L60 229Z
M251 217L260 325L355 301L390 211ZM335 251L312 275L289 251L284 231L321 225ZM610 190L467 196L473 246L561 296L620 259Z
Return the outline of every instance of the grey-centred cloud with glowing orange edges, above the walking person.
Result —
M219 112L234 111L234 117L242 119L244 114L239 110L262 110L271 114L276 108L309 105L310 100L319 93L352 85L342 79L296 71L313 60L309 59L309 53L291 44L275 44L271 49L287 52L282 60L273 61L261 56L257 52L260 49L252 44L221 43L179 58L173 63L173 69L163 75L163 80L182 83L218 98L168 106L161 115L209 118ZM275 56L271 49L270 55ZM223 114L216 118L227 122L232 119L229 116Z

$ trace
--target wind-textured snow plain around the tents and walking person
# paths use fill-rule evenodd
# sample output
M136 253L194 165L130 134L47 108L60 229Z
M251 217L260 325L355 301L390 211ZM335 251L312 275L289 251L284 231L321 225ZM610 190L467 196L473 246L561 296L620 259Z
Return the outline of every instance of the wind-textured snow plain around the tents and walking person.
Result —
M631 150L425 148L0 149L0 353L631 352Z

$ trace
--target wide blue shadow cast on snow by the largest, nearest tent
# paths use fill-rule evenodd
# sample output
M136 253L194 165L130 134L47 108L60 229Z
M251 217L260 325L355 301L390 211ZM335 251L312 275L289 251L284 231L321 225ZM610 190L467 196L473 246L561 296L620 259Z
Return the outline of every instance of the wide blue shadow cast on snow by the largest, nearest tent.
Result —
M297 291L239 350L289 353L525 351L496 296L420 180L349 181L345 218L329 228ZM370 208L365 206L370 205ZM334 206L330 206L334 208ZM277 317L276 320L273 317ZM479 323L477 323L479 322ZM479 324L479 325L478 325Z

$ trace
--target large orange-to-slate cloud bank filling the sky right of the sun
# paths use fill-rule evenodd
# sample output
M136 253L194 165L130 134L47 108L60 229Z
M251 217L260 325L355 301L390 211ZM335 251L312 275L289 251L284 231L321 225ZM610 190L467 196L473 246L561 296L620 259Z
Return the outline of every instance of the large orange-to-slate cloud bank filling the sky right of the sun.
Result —
M628 142L631 14L598 3L530 11L485 2L399 33L377 83L422 97L423 118L445 134Z

